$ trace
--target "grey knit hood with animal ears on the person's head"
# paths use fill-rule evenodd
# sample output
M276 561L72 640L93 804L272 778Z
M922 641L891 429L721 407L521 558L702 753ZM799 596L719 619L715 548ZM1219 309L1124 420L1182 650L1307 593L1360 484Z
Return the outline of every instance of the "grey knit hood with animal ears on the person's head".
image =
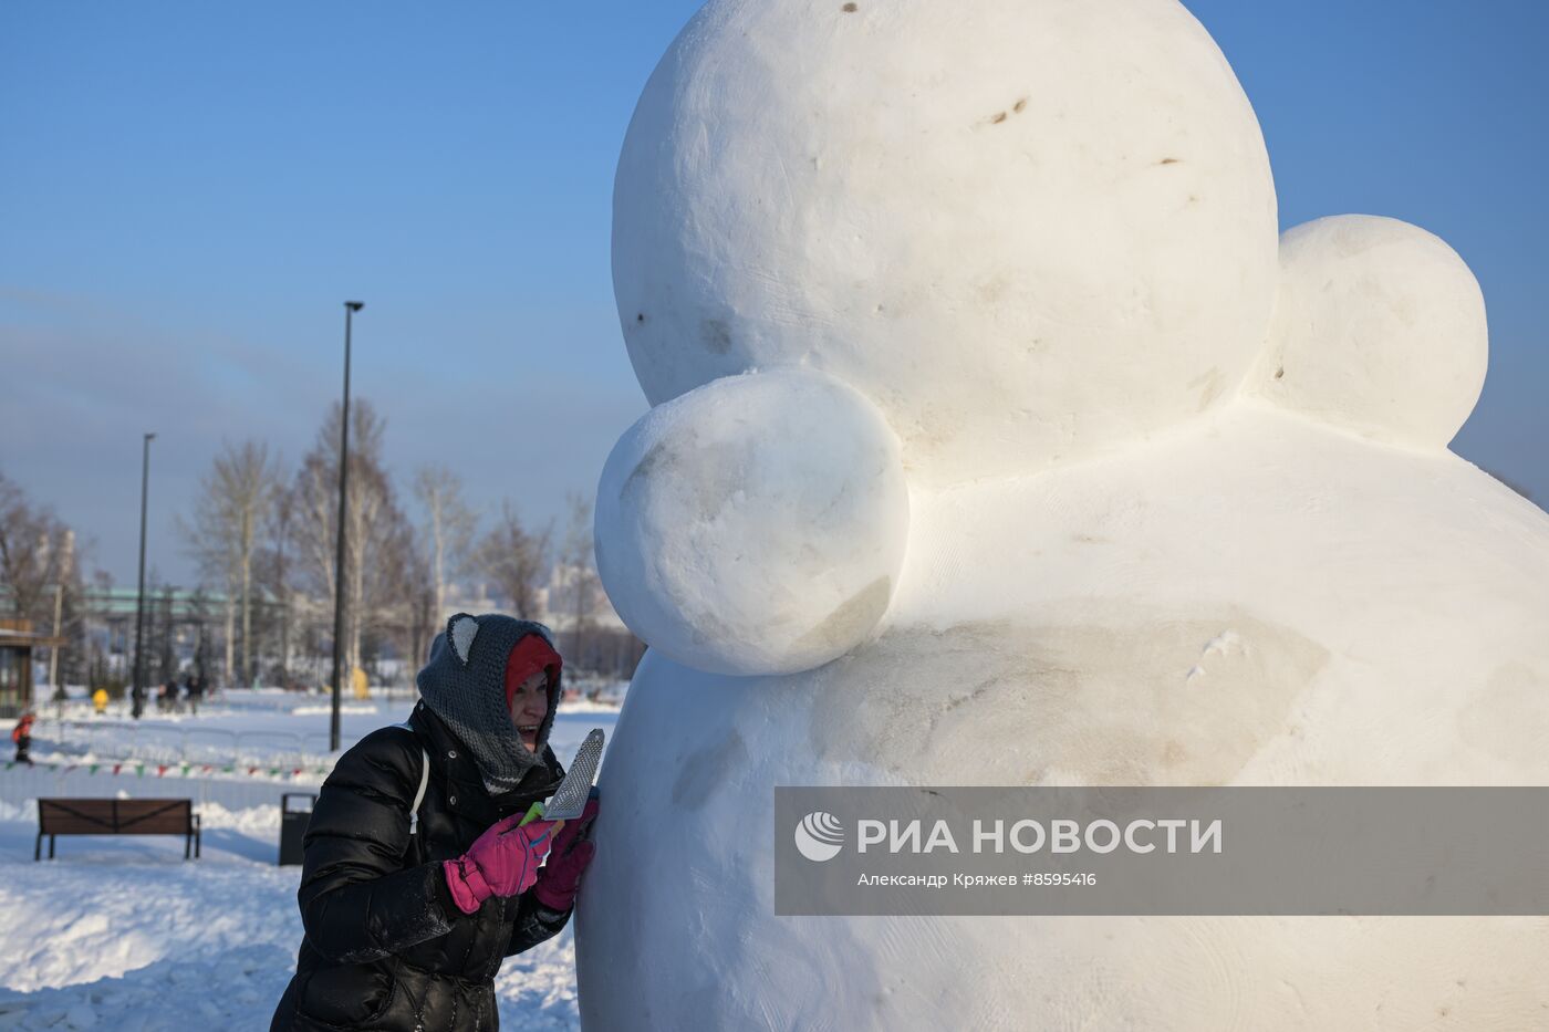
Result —
M468 747L485 786L494 793L514 789L522 775L542 764L539 758L555 725L559 677L548 685L548 713L538 728L533 752L517 738L505 703L507 657L530 634L541 635L553 648L553 632L541 623L460 612L446 621L445 634L435 635L431 662L414 679L424 705Z

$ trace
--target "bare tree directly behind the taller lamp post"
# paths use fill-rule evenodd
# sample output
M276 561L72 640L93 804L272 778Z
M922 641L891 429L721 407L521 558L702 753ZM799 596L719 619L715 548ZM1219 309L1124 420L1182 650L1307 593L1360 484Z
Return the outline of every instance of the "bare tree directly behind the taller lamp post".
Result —
M383 465L386 423L367 400L350 409L349 525L344 550L345 671L361 663L361 640L393 621L395 592L407 584L412 541ZM339 404L318 431L296 474L296 559L311 589L335 598L339 521Z

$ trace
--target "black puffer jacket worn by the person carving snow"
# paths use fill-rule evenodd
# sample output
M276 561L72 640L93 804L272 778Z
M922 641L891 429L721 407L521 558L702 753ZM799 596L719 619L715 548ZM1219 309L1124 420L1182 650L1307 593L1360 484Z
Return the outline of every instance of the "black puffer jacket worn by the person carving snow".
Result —
M431 779L410 835L421 748ZM271 1032L499 1027L500 961L555 936L570 911L525 893L465 914L441 860L553 793L562 773L544 745L544 762L514 792L491 798L468 750L423 702L407 728L372 731L344 753L307 826L297 893L307 937Z

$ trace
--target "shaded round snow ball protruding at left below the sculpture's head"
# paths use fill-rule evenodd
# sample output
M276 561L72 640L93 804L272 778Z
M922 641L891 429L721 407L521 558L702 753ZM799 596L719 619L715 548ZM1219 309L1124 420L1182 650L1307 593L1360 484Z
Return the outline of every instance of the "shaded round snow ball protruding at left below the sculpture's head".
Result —
M860 645L903 566L897 435L809 369L714 380L615 445L596 561L624 623L703 671L784 674Z

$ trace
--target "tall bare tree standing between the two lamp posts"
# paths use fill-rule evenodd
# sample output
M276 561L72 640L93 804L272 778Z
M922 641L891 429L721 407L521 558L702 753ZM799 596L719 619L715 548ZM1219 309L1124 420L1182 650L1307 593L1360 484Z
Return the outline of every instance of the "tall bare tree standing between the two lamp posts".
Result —
M178 521L189 550L208 578L226 587L226 671L232 671L234 607L242 609L242 666L239 679L252 683L252 559L259 531L270 518L279 490L279 463L268 445L223 443L200 479L194 525Z

